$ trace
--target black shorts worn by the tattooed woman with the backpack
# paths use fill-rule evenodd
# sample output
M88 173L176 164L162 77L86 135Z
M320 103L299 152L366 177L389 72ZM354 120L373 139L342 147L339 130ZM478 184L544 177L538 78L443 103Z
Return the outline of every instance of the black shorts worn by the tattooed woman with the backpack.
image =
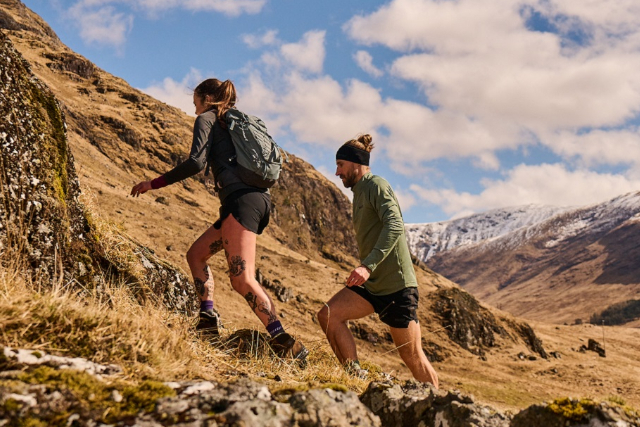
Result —
M247 230L262 234L269 224L271 196L267 192L254 190L238 190L231 193L222 202L220 218L213 227L219 230L222 221L230 214Z

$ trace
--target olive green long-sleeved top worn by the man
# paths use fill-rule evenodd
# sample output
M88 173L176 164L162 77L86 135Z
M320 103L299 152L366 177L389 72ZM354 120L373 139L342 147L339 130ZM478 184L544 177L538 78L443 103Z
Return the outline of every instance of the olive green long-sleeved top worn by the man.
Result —
M402 213L389 183L369 172L351 190L360 260L371 270L365 288L388 295L418 286Z

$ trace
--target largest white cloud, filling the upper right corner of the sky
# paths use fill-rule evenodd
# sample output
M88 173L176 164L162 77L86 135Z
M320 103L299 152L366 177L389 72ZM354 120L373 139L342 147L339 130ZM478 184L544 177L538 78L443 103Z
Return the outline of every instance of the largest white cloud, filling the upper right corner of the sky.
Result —
M344 28L362 44L398 51L391 73L422 88L442 117L468 118L468 130L494 141L480 142L486 152L514 148L530 132L575 133L637 115L639 9L632 0L393 0ZM528 29L532 10L558 33ZM584 46L568 42L571 29L585 32ZM451 150L477 155L460 143Z

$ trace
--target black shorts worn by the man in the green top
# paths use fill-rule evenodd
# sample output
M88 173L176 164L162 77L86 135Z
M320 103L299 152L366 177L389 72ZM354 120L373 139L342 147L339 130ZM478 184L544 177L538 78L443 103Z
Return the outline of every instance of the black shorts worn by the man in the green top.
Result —
M405 288L389 295L373 295L364 286L352 286L353 292L373 306L383 323L392 328L408 328L412 320L418 322L418 288Z

